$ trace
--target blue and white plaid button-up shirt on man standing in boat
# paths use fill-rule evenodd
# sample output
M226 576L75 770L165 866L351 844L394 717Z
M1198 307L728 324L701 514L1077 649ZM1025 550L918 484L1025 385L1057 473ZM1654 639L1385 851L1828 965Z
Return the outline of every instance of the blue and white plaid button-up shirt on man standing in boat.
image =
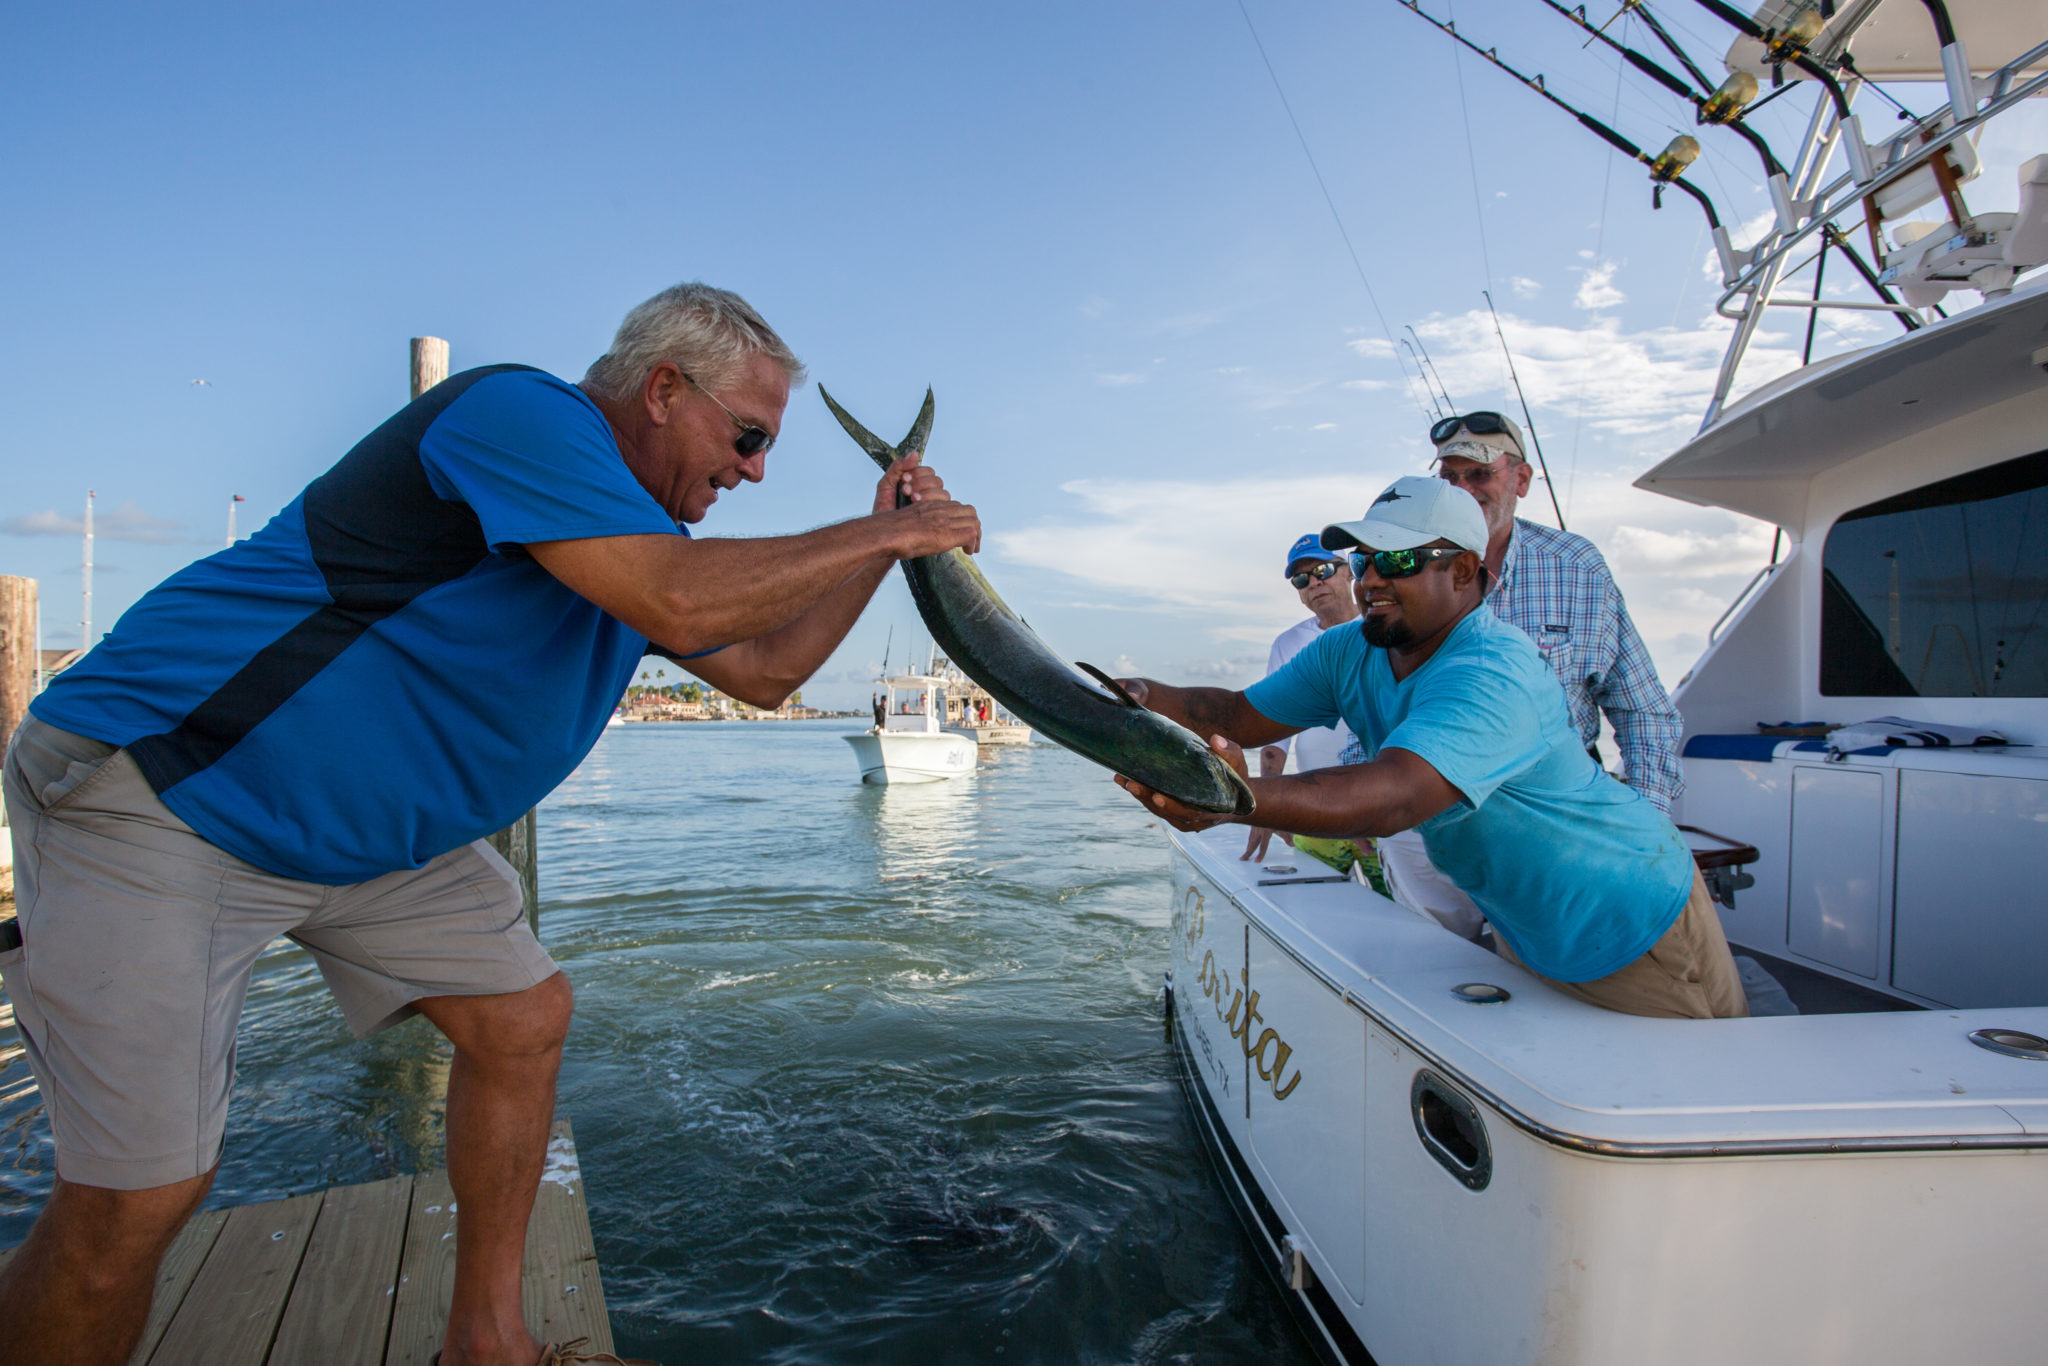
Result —
M1536 641L1587 748L1599 737L1599 713L1608 713L1628 782L1669 813L1671 801L1686 791L1677 760L1686 723L1657 680L1651 651L1628 621L1622 590L1593 543L1516 518L1487 606ZM1354 739L1343 762L1364 760L1366 750Z

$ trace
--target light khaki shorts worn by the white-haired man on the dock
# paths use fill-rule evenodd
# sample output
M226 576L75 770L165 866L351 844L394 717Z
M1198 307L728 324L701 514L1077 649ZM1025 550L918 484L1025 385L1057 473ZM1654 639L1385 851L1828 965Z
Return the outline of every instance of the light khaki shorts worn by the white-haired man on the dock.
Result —
M68 1182L143 1190L219 1161L236 1022L279 936L313 954L358 1038L420 997L555 975L483 842L352 887L299 883L199 838L125 750L35 717L4 788L23 946L0 977Z

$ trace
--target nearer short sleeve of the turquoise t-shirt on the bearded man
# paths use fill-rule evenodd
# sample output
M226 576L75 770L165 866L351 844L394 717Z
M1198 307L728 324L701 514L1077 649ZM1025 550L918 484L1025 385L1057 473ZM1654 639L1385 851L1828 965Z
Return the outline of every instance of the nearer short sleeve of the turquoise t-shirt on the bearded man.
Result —
M1438 770L1477 811L1503 782L1548 752L1542 717L1516 670L1483 653L1446 659L1380 752L1407 750Z

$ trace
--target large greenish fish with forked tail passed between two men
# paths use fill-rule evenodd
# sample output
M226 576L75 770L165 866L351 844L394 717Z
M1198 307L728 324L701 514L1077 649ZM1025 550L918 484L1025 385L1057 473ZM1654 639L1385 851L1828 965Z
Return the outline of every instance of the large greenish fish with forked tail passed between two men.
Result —
M899 446L854 422L831 401L823 385L817 393L846 434L883 469L909 451L924 451L932 434L930 389L924 391L918 422ZM901 500L897 494L897 506ZM918 614L946 657L1018 719L1075 754L1137 778L1196 811L1251 813L1251 788L1202 743L1200 735L1145 711L1114 678L1092 664L1079 668L1087 670L1094 682L1075 674L1065 659L1044 647L1022 616L1010 610L1010 604L981 578L967 551L905 559L903 578L909 580Z

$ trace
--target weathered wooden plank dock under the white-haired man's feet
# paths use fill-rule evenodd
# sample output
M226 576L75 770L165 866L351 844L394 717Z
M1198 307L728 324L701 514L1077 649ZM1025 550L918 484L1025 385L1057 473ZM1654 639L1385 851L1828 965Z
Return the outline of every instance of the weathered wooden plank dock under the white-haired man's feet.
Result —
M164 1257L129 1366L428 1366L455 1288L455 1216L444 1171L201 1210ZM526 1325L612 1350L567 1120L526 1227Z

